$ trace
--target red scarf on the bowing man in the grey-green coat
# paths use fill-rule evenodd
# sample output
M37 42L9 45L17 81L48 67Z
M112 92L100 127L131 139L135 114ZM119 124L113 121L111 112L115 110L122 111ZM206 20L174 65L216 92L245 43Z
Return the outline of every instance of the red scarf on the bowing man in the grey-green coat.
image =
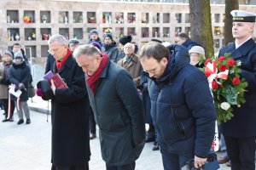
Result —
M86 78L86 82L87 82L92 94L94 94L97 80L101 77L102 71L104 70L105 66L108 63L108 54L101 53L101 55L102 55L102 62L99 65L99 68L95 71L95 73L93 73L92 76L87 74L87 78Z

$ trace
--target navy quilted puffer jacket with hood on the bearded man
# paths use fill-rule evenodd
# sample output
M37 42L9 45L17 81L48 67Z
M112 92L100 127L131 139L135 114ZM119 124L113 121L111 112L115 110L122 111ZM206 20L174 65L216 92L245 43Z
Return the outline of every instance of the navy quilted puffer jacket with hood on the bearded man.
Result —
M149 80L151 116L159 143L170 153L207 157L211 148L216 110L207 77L189 64L189 52L180 45L168 47L169 59L159 80Z

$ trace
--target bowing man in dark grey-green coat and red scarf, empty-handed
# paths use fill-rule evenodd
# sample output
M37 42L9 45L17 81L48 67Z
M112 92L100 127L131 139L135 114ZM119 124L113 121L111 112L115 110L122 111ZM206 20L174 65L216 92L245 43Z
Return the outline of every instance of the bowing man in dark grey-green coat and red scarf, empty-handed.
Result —
M107 170L134 170L143 150L145 122L143 103L130 74L92 45L79 46L74 57L86 73Z

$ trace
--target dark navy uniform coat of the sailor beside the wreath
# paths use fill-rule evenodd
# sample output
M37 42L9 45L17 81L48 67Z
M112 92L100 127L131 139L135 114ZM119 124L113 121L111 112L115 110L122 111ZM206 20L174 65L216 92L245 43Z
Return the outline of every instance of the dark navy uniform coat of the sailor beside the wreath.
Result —
M244 94L246 103L234 108L234 116L222 124L223 133L238 138L256 136L256 43L251 38L236 48L232 42L222 48L218 56L225 53L231 53L233 59L241 61L241 77L246 79L248 87Z

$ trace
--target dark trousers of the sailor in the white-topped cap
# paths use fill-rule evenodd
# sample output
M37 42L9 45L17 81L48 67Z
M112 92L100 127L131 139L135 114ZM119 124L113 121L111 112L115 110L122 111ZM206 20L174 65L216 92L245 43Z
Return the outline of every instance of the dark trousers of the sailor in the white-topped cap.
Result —
M255 139L224 136L232 170L255 170Z

